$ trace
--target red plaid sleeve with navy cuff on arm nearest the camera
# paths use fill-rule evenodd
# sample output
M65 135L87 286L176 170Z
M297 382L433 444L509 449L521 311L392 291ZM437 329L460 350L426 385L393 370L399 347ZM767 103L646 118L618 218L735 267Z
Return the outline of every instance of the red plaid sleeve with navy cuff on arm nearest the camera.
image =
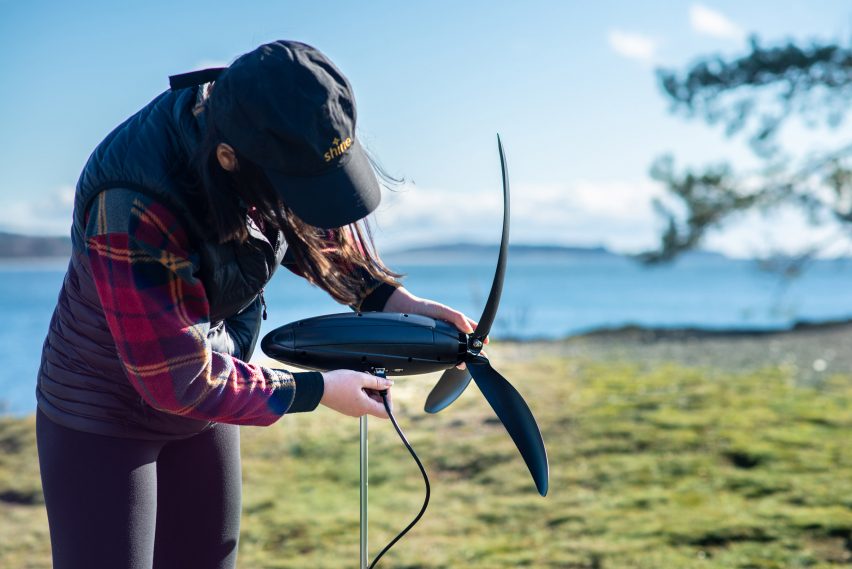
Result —
M98 297L133 387L152 407L194 419L269 425L314 409L322 375L215 352L209 305L177 218L139 193L102 192L86 245Z

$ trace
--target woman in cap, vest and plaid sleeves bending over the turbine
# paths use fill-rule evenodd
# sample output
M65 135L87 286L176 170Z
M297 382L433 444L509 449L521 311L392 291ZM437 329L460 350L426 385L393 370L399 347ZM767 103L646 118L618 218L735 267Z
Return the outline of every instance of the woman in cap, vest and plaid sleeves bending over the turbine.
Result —
M234 567L236 425L320 403L386 416L365 390L389 380L246 363L278 265L355 309L475 326L401 287L357 223L379 184L322 53L278 41L203 80L117 127L77 186L37 388L57 569Z

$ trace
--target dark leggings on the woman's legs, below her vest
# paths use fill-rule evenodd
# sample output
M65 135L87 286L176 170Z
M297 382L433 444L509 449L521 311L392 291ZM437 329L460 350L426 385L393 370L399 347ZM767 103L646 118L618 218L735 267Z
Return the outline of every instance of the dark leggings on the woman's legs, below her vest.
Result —
M105 437L36 418L54 569L225 569L240 532L240 435Z

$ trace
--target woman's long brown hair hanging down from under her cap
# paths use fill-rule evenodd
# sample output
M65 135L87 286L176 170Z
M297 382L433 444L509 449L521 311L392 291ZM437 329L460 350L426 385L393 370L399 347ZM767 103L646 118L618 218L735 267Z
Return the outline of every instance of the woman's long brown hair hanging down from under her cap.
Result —
M201 201L220 243L248 239L246 208L254 207L266 228L283 233L303 276L338 302L358 305L369 280L393 283L402 276L382 262L366 219L338 229L305 223L280 200L263 170L237 149L237 168L233 172L222 168L216 157L221 142L215 127L208 124L194 157L205 198ZM380 178L386 179L380 173Z

